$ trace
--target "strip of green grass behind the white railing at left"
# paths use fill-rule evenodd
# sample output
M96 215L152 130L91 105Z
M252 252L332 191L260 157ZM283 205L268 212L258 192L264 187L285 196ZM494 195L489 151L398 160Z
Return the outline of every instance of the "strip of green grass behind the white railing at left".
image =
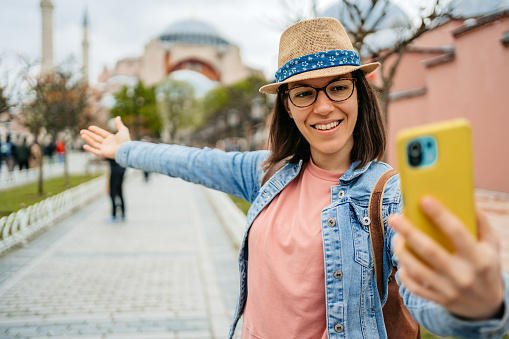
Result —
M97 175L72 175L69 176L71 187L78 186L84 182L97 178ZM18 211L21 204L26 207L34 205L41 200L46 199L49 194L56 195L66 190L64 177L57 177L44 181L44 195L37 194L37 182L18 186L10 190L0 192L0 218Z

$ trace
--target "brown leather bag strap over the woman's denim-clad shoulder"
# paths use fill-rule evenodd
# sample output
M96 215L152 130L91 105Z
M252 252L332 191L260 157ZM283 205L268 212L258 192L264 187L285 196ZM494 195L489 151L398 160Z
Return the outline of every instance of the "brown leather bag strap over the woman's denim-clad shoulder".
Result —
M382 200L385 186L390 178L398 172L390 169L375 184L369 197L368 217L371 220L369 226L369 234L371 238L371 249L373 252L373 264L375 268L376 285L378 287L378 295L382 297L383 286L383 248L384 248L384 225L382 219Z

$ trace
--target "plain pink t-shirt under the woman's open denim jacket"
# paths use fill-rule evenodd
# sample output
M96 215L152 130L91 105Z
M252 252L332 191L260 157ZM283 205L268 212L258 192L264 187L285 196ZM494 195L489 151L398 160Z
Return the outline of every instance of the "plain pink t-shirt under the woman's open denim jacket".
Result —
M320 219L339 177L309 162L253 223L242 339L327 338Z

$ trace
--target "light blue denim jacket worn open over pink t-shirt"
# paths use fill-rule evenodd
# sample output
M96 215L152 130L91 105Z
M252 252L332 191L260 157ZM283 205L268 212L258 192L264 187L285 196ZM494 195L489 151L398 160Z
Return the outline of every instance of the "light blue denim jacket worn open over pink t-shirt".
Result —
M230 328L233 336L247 298L249 253L247 236L254 219L272 199L300 172L302 162L287 164L260 187L262 162L268 151L223 152L178 145L154 145L144 142L124 143L116 161L146 171L219 190L249 201L244 240L239 253L240 295ZM331 187L330 205L322 210L321 227L325 267L326 324L328 338L387 338L382 306L387 300L387 281L392 266L397 265L392 251L394 231L387 227L387 217L401 211L399 178L386 186L382 215L385 228L384 286L379 297L373 270L369 226L364 225L369 196L378 178L390 169L381 162L371 162L360 169L353 163ZM397 277L397 276L396 276ZM509 301L509 280L504 275L505 304ZM466 321L443 307L410 294L403 286L400 293L413 317L424 327L441 336L461 338L498 338L509 329L507 308L501 319Z

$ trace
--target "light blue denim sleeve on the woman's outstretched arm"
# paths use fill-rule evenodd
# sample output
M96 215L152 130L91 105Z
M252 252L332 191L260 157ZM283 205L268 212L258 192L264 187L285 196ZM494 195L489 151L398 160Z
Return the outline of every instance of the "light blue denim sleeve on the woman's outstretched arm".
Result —
M129 141L120 146L115 160L122 166L178 177L252 202L267 156L268 151L224 152Z

